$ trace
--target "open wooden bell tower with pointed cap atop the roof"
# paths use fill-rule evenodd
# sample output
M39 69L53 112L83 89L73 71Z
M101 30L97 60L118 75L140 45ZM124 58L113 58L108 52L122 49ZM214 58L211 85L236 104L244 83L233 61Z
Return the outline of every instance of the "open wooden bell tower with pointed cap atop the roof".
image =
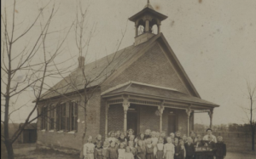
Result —
M148 0L148 3L145 5L143 10L129 18L129 20L135 23L134 45L136 46L140 43L147 42L148 39L154 37L154 35L160 34L161 21L166 20L166 18L166 15L155 11ZM154 25L157 26L156 34L153 33Z

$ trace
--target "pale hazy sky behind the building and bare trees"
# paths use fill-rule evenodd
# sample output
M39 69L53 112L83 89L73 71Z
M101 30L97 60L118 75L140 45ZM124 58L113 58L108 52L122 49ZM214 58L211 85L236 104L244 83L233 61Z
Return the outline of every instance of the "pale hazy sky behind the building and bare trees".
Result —
M50 30L61 32L49 39L49 44L54 45L55 40L65 35L76 17L77 4L73 0L17 0L17 35L28 28L39 9L47 3L49 5L40 20L46 20L55 3L58 11ZM120 48L131 46L134 43L134 24L127 19L143 9L146 3L147 0L84 0L81 5L88 8L88 31L96 26L86 62L113 53L124 32ZM247 122L241 106L249 105L247 81L252 87L256 85L256 1L150 0L150 3L158 12L168 16L162 21L161 32L201 98L220 105L214 110L213 124ZM12 1L3 0L4 7L8 20L11 20ZM36 26L15 49L19 50L31 42L39 29ZM78 53L73 29L63 50L60 58ZM71 63L76 63L76 58ZM19 76L22 73L17 78ZM48 83L54 85L59 80L49 80ZM20 95L20 103L27 103L27 106L11 116L13 122L24 121L32 108L32 99L29 92ZM196 114L195 123L209 124L209 116L207 113Z

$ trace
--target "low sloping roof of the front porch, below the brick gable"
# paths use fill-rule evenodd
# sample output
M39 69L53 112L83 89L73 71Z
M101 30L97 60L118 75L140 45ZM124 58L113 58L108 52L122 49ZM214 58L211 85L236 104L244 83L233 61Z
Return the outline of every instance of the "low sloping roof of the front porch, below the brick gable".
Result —
M183 94L173 88L162 88L141 82L126 82L119 87L112 88L109 91L102 93L102 98L115 97L119 95L136 95L138 97L163 99L191 105L205 105L211 107L219 106L207 100L200 99L189 94Z

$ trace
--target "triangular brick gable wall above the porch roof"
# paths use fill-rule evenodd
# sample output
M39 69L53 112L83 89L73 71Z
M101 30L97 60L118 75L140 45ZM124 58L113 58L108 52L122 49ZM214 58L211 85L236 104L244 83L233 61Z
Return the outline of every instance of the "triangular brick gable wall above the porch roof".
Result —
M102 91L128 81L176 88L178 91L188 94L183 82L181 82L169 60L167 60L166 55L157 44L133 62L118 77L109 82L108 85L103 86Z

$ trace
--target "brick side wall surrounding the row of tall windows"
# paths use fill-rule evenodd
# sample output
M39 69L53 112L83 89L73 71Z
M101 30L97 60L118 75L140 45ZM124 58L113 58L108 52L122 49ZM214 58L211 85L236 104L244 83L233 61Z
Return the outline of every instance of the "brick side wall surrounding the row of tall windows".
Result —
M69 99L79 100L79 96L73 96ZM52 101L52 103L58 103L60 101L66 101L67 99L58 99ZM68 101L68 100L67 100ZM77 133L58 133L56 130L54 132L49 132L46 130L45 132L38 129L38 145L42 145L42 147L51 147L54 149L63 149L67 148L72 150L80 150L82 143L82 136L84 132L84 106L83 102L80 103L79 106L79 123L78 123L78 132ZM90 104L87 107L87 131L85 140L88 135L92 135L96 137L96 134L100 133L100 109L101 109L101 98L100 98L100 90L94 93L94 96L90 99ZM41 105L42 106L42 105ZM38 119L38 128L40 128L41 120ZM44 145L44 146L43 146Z

